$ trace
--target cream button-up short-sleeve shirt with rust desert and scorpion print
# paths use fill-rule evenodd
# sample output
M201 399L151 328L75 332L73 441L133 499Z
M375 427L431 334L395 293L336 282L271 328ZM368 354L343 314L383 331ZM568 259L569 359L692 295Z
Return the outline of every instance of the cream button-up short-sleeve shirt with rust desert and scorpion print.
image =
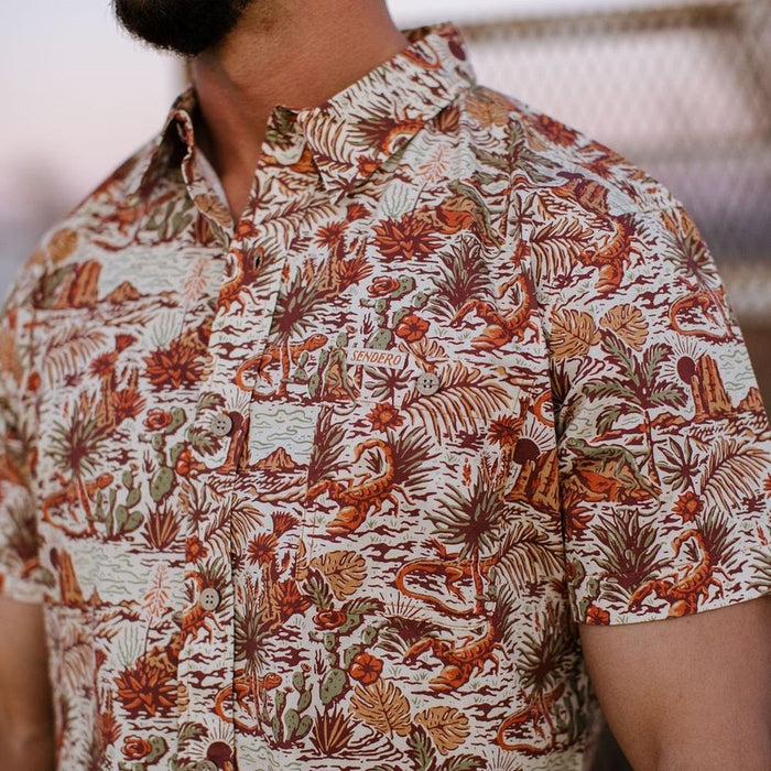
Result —
M578 625L770 588L688 216L410 39L274 110L237 222L187 91L6 302L0 578L63 771L580 769Z

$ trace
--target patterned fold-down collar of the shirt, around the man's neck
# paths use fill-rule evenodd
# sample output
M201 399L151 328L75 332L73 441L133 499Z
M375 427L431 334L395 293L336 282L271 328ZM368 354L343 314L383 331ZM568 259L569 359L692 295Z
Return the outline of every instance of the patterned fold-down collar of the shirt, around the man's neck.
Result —
M276 108L296 119L322 182L333 194L349 192L465 90L474 69L460 32L450 23L405 32L409 45L318 107ZM141 195L169 167L175 151L194 148L196 96L174 101L161 133L131 173L129 191Z

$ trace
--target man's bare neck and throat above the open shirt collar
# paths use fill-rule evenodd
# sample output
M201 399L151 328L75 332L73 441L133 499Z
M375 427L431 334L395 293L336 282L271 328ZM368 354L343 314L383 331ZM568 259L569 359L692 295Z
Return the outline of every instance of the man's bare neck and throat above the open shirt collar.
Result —
M380 0L258 0L193 63L199 143L230 209L246 206L276 105L315 107L406 45Z

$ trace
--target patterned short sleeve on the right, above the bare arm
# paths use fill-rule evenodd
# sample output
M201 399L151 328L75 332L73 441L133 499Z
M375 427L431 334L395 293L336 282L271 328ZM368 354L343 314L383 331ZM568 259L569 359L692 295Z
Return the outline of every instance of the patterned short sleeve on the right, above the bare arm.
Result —
M544 292L573 611L629 623L771 589L771 432L676 204L608 220Z

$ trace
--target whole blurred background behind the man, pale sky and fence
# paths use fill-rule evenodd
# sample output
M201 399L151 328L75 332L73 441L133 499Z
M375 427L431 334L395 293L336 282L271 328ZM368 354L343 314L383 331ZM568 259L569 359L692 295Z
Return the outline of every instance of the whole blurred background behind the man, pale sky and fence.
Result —
M391 0L453 19L479 79L664 182L709 242L771 406L771 0ZM108 0L0 6L0 292L58 217L161 127L184 68ZM611 747L598 769L625 769Z

